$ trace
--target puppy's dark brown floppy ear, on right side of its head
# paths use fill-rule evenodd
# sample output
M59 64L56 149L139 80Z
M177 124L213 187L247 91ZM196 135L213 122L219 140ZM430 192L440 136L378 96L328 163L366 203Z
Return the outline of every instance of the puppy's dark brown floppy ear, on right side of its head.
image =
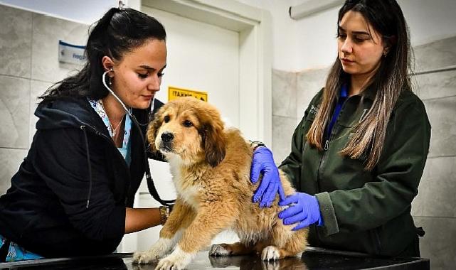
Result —
M210 124L203 124L202 133L206 162L212 167L215 167L225 158L223 123L221 121L215 121Z

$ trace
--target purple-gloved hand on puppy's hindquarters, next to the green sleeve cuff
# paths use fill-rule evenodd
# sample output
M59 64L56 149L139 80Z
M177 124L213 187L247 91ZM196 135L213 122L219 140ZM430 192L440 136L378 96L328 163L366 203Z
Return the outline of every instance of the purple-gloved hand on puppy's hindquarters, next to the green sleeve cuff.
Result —
M288 205L287 209L279 213L284 225L298 223L292 230L302 229L317 223L323 225L319 203L315 196L307 193L295 193L279 202L280 206Z

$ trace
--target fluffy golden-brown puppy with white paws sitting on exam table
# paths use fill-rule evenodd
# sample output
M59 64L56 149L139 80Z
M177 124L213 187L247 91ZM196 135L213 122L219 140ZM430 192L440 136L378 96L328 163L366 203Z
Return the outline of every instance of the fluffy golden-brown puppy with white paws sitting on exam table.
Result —
M269 208L252 202L253 150L240 131L224 129L215 107L193 97L168 102L149 124L147 139L169 161L177 198L159 240L136 252L135 263L162 258L157 269L184 269L224 229L233 229L240 242L213 245L211 256L257 253L276 260L304 251L307 229L283 225L278 196ZM280 180L286 195L295 192L282 172Z

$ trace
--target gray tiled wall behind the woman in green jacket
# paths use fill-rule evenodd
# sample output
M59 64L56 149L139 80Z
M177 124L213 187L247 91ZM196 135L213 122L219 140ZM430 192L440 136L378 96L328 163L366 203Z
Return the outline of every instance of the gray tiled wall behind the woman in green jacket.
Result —
M423 100L432 136L428 161L413 201L416 225L423 226L421 256L431 269L456 265L456 37L415 48L415 92ZM438 71L450 67L447 71ZM434 70L434 72L425 72ZM283 72L272 70L272 150L280 163L290 153L295 126L310 99L324 86L329 68ZM296 112L292 112L296 108Z

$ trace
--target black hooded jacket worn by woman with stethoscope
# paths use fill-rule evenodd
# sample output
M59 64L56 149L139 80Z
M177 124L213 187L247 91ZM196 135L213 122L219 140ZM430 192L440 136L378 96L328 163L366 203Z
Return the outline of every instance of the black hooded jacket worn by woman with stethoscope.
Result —
M154 108L161 104L155 101ZM133 114L147 123L149 111ZM124 236L125 207L133 206L144 175L138 129L132 123L128 167L87 99L40 104L35 115L31 148L0 197L0 234L43 257L115 251Z

